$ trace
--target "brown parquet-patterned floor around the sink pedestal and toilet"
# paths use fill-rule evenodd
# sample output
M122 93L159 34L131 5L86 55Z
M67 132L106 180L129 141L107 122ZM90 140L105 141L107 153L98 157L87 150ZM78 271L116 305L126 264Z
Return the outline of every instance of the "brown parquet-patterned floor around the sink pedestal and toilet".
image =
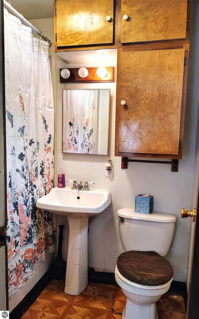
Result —
M64 286L64 281L53 279L22 318L122 318L119 313L124 309L126 297L118 285L90 282L79 296L65 294ZM178 293L165 293L157 302L157 312L158 319L186 319L184 300Z

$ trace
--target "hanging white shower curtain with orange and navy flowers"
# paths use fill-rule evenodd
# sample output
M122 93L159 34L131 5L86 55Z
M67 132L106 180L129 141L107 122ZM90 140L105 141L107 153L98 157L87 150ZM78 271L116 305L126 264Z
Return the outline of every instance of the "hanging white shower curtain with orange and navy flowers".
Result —
M55 251L52 216L36 208L53 180L49 44L4 8L9 298Z

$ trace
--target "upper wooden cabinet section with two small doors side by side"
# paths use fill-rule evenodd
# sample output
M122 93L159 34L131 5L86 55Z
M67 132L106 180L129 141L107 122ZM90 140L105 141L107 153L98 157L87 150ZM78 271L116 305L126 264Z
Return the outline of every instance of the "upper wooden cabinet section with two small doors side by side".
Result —
M55 52L186 38L187 0L54 2Z

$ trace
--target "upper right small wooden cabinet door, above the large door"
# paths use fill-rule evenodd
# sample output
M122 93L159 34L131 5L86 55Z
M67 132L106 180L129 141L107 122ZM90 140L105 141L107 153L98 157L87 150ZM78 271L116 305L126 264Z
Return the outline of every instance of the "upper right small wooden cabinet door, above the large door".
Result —
M186 38L187 2L121 0L121 43Z

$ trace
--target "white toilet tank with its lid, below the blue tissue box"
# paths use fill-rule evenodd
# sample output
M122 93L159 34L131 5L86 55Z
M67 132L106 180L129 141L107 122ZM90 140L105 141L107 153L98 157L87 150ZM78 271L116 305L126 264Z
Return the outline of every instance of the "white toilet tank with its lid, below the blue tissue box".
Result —
M150 214L136 213L134 209L123 208L117 212L119 234L123 249L156 251L166 256L172 242L176 217L162 211Z

